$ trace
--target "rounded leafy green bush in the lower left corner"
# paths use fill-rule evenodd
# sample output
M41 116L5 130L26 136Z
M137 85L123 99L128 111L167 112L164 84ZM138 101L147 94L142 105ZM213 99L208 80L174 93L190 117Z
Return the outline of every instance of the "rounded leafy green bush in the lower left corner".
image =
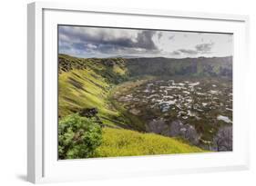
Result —
M58 123L59 159L93 157L102 142L102 129L94 118L80 117L77 113Z

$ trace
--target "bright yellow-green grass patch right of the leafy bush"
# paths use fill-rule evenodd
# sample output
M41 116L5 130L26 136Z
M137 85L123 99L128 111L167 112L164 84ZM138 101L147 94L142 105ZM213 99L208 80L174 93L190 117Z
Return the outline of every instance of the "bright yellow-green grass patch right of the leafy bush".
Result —
M97 148L97 157L204 152L177 139L153 133L110 128L104 128L103 133L103 143Z

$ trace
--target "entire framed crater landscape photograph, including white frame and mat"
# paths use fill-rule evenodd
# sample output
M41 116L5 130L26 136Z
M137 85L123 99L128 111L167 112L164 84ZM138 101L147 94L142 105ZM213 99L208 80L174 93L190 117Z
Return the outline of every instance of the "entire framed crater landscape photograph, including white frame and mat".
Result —
M249 167L245 15L28 5L27 179Z

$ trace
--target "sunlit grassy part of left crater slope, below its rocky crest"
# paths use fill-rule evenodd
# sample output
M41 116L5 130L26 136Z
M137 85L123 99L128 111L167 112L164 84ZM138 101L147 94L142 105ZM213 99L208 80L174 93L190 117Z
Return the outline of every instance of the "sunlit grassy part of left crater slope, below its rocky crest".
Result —
M83 108L97 108L101 120L108 126L117 126L124 123L124 118L108 102L108 91L113 86L99 73L93 62L85 62L87 68L72 69L61 72L58 76L58 115L66 116L77 113ZM97 64L97 71L106 71L106 67ZM115 69L117 70L117 69ZM120 69L119 72L123 73Z

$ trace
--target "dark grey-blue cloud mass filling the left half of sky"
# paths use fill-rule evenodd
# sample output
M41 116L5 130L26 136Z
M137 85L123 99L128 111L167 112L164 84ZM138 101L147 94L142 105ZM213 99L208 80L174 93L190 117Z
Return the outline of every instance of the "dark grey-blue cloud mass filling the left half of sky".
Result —
M116 35L108 28L98 28L97 34L93 33L91 28L85 27L59 27L60 49L62 44L69 43L73 50L90 51L97 50L97 53L115 53L117 51L130 51L139 53L139 51L157 51L158 47L153 41L155 31L143 30L137 33L136 36L129 37L128 35ZM95 47L89 47L89 45ZM67 46L66 46L67 48ZM136 50L140 49L140 50Z

